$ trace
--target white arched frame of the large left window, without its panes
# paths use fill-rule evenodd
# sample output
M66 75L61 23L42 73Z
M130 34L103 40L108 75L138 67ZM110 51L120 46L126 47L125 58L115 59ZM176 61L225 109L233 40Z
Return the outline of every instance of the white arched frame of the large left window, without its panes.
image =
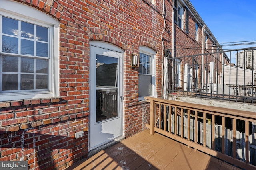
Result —
M0 92L0 102L8 100L23 100L32 98L50 98L59 96L59 22L54 18L48 16L44 12L24 5L20 2L1 0L0 6L0 23L2 23L2 16L13 18L15 20L40 25L42 27L50 28L49 39L49 65L48 65L48 90L47 91L30 91L30 92ZM0 24L2 30L2 24ZM9 56L22 57L21 55L2 53L2 31L0 32L0 55L6 54ZM0 58L1 59L1 58ZM0 60L1 62L1 60ZM2 63L0 63L2 65ZM2 70L0 69L0 76ZM0 80L2 78L0 77ZM0 87L2 81L0 82ZM1 88L2 89L2 88Z

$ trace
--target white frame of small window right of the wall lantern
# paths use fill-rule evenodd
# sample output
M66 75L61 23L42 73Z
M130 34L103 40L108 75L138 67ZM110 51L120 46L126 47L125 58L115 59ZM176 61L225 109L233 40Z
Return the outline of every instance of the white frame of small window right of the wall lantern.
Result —
M152 56L152 63L151 63L151 95L152 97L156 97L156 52L149 47L146 46L139 46L139 53L143 53L146 55L151 55ZM140 81L140 80L138 80ZM140 90L140 89L138 89ZM138 100L144 100L145 96L138 96Z

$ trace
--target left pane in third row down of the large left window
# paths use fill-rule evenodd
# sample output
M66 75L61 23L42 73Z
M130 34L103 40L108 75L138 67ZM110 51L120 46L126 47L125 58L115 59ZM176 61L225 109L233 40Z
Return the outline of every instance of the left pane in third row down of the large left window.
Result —
M3 56L2 72L18 72L18 57Z

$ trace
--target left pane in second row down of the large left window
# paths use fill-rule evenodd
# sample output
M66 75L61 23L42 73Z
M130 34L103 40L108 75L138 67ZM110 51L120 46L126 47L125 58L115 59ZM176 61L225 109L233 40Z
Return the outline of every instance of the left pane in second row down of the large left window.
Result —
M18 54L18 38L3 35L2 52Z

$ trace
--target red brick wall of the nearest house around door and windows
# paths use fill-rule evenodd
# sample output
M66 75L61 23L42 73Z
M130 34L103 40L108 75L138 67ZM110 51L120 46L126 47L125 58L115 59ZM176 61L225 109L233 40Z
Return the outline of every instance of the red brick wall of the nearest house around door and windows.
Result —
M138 68L131 55L143 45L156 51L156 92L161 97L162 0L16 0L59 21L59 97L0 102L0 161L28 160L30 169L63 169L88 154L90 41L104 41L124 50L123 135L144 130L149 103L138 101ZM172 4L165 1L164 48L172 47ZM168 10L170 9L170 10ZM193 44L194 19L189 34L175 25L175 45ZM176 56L201 53L176 50ZM82 138L74 134L84 131Z

